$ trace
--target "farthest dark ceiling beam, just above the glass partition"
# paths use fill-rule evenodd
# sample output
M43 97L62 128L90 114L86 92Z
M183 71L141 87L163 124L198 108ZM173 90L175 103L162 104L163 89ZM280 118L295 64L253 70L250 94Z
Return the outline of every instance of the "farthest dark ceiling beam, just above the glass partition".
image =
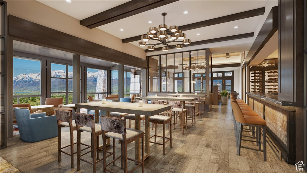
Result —
M248 38L248 37L254 37L254 33L245 33L245 34L238 34L238 35L233 35L233 36L227 36L227 37L220 37L220 38L213 38L213 39L208 39L208 40L201 40L201 41L195 41L192 42L191 44L188 45L183 45L183 47L188 47L188 46L196 46L200 44L209 44L209 43L216 43L220 41L229 41L229 40L237 40L241 38ZM169 47L169 49L174 49L174 47ZM145 52L154 52L154 51L161 51L161 48L155 48L154 50L145 50Z

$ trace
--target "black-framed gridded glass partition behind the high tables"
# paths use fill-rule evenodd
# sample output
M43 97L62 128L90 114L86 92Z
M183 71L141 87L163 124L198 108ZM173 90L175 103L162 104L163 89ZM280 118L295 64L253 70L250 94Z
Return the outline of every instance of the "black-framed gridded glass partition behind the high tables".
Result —
M148 91L160 92L161 87L161 92L205 93L205 60L206 50L171 53L160 56L149 56ZM161 76L159 75L160 73Z

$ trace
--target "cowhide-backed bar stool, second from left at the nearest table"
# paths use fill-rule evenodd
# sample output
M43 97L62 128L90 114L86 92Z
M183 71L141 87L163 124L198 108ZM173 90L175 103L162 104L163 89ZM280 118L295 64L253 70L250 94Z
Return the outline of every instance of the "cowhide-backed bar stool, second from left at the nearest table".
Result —
M77 170L80 171L80 160L82 160L86 163L93 165L93 172L95 173L96 164L102 161L103 158L105 158L106 156L104 155L102 159L99 159L99 151L102 151L102 149L99 148L99 135L102 135L100 123L95 123L94 115L92 114L76 112L75 118L76 118L77 137L78 137ZM90 151L82 153L82 154L81 154L81 145L80 145L81 144L81 132L91 133L91 147L92 147ZM114 141L113 141L113 146L115 147ZM96 158L96 151L97 151L97 158ZM92 162L81 158L81 156L84 156L85 154L90 153L90 152L93 158ZM113 154L112 152L108 152L108 153L110 153L111 155Z

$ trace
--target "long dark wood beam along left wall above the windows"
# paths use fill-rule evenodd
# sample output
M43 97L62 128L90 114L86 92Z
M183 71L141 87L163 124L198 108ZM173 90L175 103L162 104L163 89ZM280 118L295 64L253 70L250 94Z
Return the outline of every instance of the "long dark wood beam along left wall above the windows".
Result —
M141 58L96 44L55 29L39 25L19 17L8 16L9 35L32 44L44 44L72 53L90 56L134 67L147 68L147 61ZM103 38L102 38L103 39Z

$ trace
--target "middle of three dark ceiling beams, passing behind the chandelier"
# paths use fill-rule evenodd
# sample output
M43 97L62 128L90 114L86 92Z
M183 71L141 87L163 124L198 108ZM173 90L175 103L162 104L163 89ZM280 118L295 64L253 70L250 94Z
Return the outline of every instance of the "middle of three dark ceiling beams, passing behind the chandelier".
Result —
M260 16L260 15L263 15L264 12L265 12L265 7L262 7L262 8L257 8L257 9L254 9L254 10L243 11L241 13L235 13L235 14L231 14L231 15L227 15L227 16L223 16L223 17L217 17L217 18L214 18L214 19L209 19L209 20L205 20L205 21L191 23L191 24L188 24L188 25L178 26L178 28L181 29L181 31L187 31L187 30L191 30L191 29L202 28L202 27L221 24L221 23L225 23L225 22L245 19L245 18L249 18L249 17ZM142 35L144 35L144 34L142 34ZM122 43L129 43L129 42L141 40L142 35L122 39Z

